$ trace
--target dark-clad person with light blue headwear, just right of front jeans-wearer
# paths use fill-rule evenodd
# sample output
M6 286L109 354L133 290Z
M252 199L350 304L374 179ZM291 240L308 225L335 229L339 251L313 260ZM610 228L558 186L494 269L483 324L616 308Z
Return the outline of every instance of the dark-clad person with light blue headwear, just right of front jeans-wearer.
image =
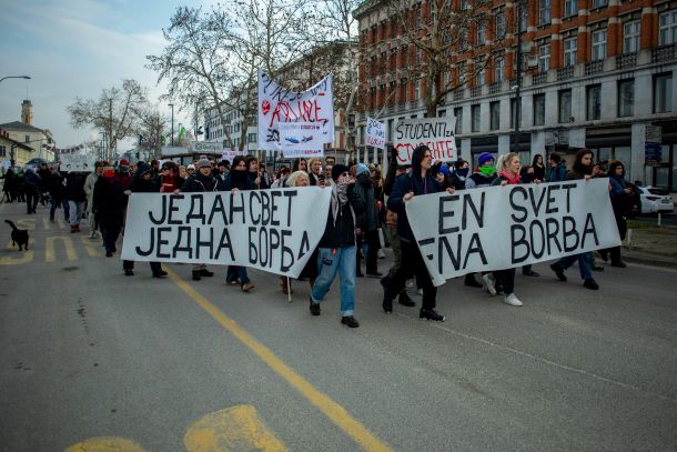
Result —
M364 200L365 205L364 212L357 215L357 250L361 249L362 242L366 241L366 274L367 277L381 278L383 274L378 273L377 268L381 241L378 239L378 211L376 210L374 183L366 164L357 164L356 174L355 192ZM356 274L362 275L360 252L357 251L356 254Z

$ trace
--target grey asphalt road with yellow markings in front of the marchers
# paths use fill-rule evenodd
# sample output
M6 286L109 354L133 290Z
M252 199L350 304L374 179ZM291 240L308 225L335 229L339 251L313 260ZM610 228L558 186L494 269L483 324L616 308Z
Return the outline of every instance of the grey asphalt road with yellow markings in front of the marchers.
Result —
M523 308L454 280L444 323L384 314L360 279L350 330L337 284L313 318L307 283L287 303L257 271L249 294L221 268L129 278L87 232L22 212L0 205L33 228L29 253L0 249L1 451L677 450L674 270L607 268L594 292L538 264Z

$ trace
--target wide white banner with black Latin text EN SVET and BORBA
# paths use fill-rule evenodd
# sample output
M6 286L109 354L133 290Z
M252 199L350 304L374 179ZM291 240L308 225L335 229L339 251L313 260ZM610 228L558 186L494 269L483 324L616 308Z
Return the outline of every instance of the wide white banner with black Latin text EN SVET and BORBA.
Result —
M435 285L620 244L606 178L420 195L405 208Z

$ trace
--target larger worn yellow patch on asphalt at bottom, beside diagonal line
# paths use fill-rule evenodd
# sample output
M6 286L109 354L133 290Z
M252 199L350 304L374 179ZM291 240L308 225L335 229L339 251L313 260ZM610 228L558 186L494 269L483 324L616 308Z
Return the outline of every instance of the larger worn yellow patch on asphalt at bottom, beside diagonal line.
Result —
M259 419L252 405L233 406L205 415L185 432L183 444L189 452L287 451Z

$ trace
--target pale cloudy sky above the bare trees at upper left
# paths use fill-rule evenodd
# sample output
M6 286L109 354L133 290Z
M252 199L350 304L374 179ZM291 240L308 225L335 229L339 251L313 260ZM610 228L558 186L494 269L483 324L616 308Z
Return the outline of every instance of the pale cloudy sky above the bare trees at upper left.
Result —
M211 1L0 0L0 78L31 77L0 82L0 123L21 120L28 92L33 125L50 129L57 145L68 148L98 135L71 128L65 109L75 97L97 99L103 88L135 79L158 103L164 86L144 68L145 56L162 52L162 28L178 6L203 3ZM176 124L188 118L174 111Z

